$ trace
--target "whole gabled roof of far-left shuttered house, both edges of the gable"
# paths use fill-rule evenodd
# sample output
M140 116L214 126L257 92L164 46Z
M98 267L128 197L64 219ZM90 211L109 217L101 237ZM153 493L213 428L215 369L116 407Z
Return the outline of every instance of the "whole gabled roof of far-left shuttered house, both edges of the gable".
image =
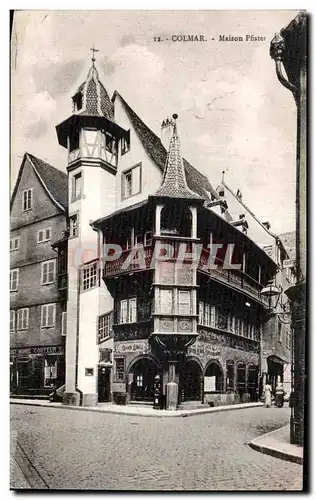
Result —
M36 156L25 153L19 175L12 193L11 203L12 206L15 194L22 176L25 161L28 160L30 165L38 177L40 183L44 187L52 202L63 212L68 209L68 176L65 172L52 167L49 163L37 158Z

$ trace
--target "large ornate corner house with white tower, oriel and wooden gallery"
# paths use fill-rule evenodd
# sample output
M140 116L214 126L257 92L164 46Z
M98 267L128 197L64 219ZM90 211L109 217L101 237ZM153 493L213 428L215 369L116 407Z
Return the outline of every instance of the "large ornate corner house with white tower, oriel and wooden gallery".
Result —
M152 402L155 380L164 396L176 384L175 404L256 400L278 343L279 378L290 360L260 293L282 274L282 242L182 158L176 115L158 138L109 98L94 60L72 100L56 127L68 149L64 401Z

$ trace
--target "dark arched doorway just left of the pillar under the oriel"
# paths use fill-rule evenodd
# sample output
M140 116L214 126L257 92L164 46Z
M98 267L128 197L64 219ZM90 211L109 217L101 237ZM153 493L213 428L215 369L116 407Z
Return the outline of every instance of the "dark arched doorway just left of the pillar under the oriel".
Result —
M153 401L154 378L158 373L156 364L147 358L138 360L132 367L132 401Z

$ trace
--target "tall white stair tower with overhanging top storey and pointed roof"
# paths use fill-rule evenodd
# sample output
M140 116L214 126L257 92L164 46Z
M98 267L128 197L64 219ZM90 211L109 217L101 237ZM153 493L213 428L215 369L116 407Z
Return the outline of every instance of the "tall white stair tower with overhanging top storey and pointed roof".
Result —
M114 120L114 105L92 65L72 97L73 114L57 125L68 150L68 300L65 403L97 402L99 315L113 302L99 276L101 234L91 222L114 210L119 143L126 132ZM102 286L101 286L102 285Z

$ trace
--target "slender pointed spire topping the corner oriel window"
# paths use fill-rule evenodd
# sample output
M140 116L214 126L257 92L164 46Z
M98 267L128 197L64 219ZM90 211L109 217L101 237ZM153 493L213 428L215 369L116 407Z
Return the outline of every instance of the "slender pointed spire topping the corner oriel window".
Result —
M174 114L172 118L174 120L173 134L170 140L162 184L156 192L156 196L201 199L199 195L191 191L188 187L181 155L180 139L177 132L176 120L178 115Z

